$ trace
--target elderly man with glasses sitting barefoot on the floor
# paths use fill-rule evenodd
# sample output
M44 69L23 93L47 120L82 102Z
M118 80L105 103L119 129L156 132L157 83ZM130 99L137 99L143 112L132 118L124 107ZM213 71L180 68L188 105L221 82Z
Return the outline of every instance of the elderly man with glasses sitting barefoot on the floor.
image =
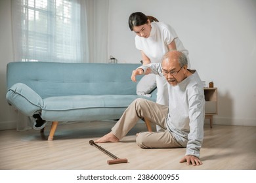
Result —
M186 147L186 154L180 162L201 165L205 99L198 73L187 69L187 64L186 56L182 52L170 51L163 56L161 63L142 65L133 71L131 79L134 82L136 76L144 74L148 68L151 73L165 76L169 83L169 107L146 99L136 99L112 127L112 131L95 142L119 142L140 118L148 118L152 123L160 125L164 131L137 134L136 141L140 147Z

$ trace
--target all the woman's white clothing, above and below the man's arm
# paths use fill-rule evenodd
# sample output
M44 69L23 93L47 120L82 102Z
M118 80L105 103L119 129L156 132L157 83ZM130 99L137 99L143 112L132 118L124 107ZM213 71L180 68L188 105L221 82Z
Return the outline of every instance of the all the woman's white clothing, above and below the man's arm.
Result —
M136 48L142 50L150 59L151 63L161 62L161 58L168 52L168 44L173 40L175 41L176 49L188 58L188 50L184 48L173 27L163 22L152 22L151 27L152 29L148 38L139 37L138 35L135 37ZM188 67L190 67L189 59ZM156 84L158 86L156 103L168 105L168 90L165 77L156 75ZM157 129L159 130L160 128L157 127Z

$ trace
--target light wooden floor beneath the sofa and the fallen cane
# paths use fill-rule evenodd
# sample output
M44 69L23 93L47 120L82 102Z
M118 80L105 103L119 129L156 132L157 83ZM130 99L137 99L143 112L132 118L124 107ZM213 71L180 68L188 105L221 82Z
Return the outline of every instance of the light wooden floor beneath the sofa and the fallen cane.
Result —
M57 127L54 140L47 141L50 126L44 135L39 131L0 131L0 169L7 170L69 170L69 169L207 169L207 170L255 170L256 127L205 124L205 136L201 150L203 165L193 167L179 163L185 148L142 149L135 142L135 134L146 131L139 123L119 143L100 144L128 163L108 165L111 159L89 144L108 133L116 122L85 122Z

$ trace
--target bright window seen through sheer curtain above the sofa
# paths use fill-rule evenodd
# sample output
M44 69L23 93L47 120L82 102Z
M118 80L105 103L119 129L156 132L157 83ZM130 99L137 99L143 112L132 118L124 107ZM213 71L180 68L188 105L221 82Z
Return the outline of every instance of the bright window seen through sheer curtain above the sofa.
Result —
M72 0L20 0L19 5L21 16L16 17L15 26L16 31L20 31L16 36L19 59L81 61L79 3Z

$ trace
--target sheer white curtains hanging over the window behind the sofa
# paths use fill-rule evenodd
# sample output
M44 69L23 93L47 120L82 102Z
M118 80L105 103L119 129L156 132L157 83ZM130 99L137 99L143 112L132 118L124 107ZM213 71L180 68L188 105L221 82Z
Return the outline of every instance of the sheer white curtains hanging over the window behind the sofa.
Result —
M14 61L107 63L108 2L12 0Z

